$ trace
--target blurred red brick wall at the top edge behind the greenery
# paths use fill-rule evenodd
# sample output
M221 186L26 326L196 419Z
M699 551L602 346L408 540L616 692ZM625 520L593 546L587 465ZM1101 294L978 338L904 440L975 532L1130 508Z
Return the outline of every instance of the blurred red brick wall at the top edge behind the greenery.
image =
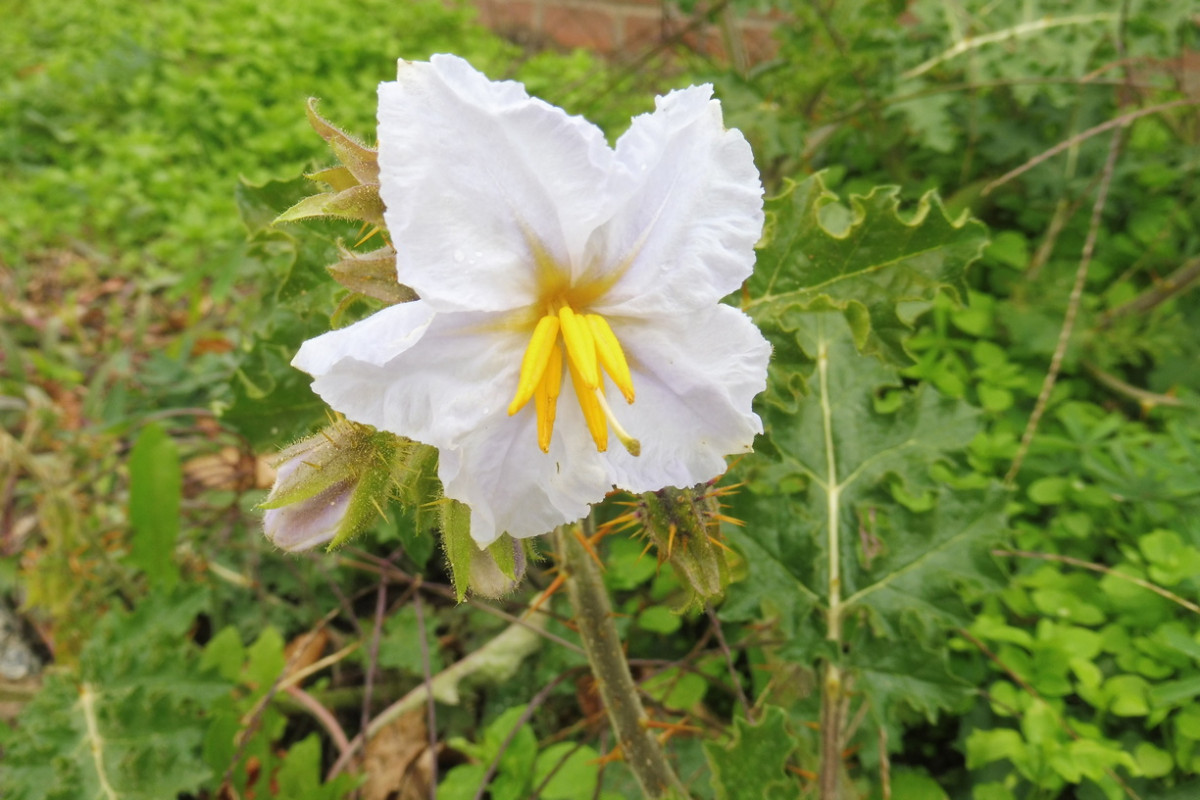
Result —
M473 2L480 22L521 41L584 47L607 55L640 55L661 46L682 46L743 67L775 53L770 36L774 23L734 14L724 6L712 12L701 6L685 14L667 0Z

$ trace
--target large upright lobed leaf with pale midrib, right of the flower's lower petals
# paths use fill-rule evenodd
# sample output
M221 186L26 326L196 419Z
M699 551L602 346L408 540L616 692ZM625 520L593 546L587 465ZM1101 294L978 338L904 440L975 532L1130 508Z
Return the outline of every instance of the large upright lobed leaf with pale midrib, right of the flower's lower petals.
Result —
M904 389L894 366L858 353L840 313L794 323L815 361L805 371L776 359L773 368L812 392L794 404L768 397L761 409L764 437L742 464L746 489L732 511L746 524L728 531L748 577L730 588L722 614L775 619L781 657L845 661L878 720L896 721L901 705L932 718L966 697L946 667L944 636L971 620L964 589L1002 585L990 549L1008 495L946 480L977 429L966 403ZM890 402L877 404L884 395ZM928 510L898 503L895 487ZM827 640L832 614L848 652Z

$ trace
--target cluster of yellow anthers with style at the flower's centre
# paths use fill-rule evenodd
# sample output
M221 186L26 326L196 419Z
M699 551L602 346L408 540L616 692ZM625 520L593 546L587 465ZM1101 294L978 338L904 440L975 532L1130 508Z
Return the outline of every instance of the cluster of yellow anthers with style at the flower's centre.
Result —
M637 456L642 445L620 427L604 396L601 368L620 390L625 402L634 402L634 379L617 335L600 314L576 313L565 301L558 301L554 306L557 309L548 308L529 337L529 347L521 359L517 391L509 404L509 416L533 399L538 411L538 446L542 452L550 452L558 395L563 386L565 348L566 371L571 374L575 396L580 401L580 409L596 450L608 450L611 425L613 434L625 450Z

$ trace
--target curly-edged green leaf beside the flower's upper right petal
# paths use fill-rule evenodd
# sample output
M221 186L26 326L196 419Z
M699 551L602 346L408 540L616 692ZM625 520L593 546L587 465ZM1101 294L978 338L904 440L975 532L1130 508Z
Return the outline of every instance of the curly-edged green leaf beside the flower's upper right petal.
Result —
M912 361L904 347L919 308L941 289L966 296L964 272L986 243L977 221L947 218L934 193L920 198L907 218L896 187L877 187L851 198L848 227L836 233L822 210L838 201L814 175L767 201L773 231L750 279L745 311L779 343L805 312L845 314L863 353L894 363Z

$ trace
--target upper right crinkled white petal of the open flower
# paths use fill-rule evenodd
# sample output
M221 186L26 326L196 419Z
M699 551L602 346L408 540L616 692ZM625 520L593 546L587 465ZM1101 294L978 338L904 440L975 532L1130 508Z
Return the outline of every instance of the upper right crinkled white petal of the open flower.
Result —
M708 85L659 97L617 142L610 191L623 205L588 243L592 269L624 269L601 313L698 308L750 276L762 184L710 97Z

